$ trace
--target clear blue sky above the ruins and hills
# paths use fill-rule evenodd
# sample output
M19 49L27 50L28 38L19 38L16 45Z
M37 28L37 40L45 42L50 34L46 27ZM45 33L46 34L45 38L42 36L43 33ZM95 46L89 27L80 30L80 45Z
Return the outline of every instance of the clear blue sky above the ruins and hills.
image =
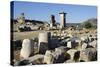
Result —
M72 4L51 4L37 2L14 2L14 18L25 13L26 19L50 21L50 15L55 15L57 22L60 22L60 12L68 13L66 23L79 23L89 18L97 18L97 7Z

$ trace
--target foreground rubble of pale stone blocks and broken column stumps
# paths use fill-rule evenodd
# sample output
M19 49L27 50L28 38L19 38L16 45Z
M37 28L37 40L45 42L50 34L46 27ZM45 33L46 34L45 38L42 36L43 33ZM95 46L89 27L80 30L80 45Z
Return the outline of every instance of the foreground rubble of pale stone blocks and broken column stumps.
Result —
M70 36L71 37L65 36L59 39L60 36L52 37L50 33L42 32L39 34L38 40L34 38L32 40L24 39L20 51L20 57L23 59L20 59L18 62L16 61L15 65L71 63L97 60L97 38L95 36L82 35L83 37L80 38L75 35ZM55 39L55 43L52 39ZM53 48L50 49L51 47Z

